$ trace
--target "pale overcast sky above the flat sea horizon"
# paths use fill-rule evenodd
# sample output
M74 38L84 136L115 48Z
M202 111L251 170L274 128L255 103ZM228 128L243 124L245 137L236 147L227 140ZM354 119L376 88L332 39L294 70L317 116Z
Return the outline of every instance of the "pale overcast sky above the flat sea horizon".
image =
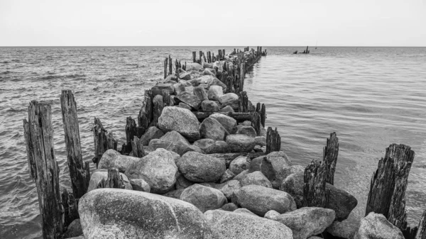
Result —
M426 0L0 0L0 46L426 46Z

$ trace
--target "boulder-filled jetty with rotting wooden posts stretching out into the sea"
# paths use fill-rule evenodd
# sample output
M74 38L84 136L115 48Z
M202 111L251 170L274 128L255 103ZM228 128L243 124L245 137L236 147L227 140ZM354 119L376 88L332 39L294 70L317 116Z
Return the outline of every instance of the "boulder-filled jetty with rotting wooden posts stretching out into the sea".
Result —
M31 101L23 128L43 238L425 239L426 211L418 226L406 222L409 146L390 145L378 162L364 218L334 185L336 133L321 160L293 164L278 129L266 128L266 105L244 91L246 72L266 55L258 47L165 57L164 79L126 118L125 142L94 118L92 162L82 160L74 95L62 91L72 191L60 189L50 105Z

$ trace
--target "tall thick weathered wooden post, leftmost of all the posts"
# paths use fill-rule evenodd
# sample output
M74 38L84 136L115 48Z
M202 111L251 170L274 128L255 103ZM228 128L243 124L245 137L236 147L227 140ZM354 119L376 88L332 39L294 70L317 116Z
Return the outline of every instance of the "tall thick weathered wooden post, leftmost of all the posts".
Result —
M62 202L59 167L53 148L52 109L50 104L31 101L28 121L23 119L28 168L38 193L43 238L62 238Z

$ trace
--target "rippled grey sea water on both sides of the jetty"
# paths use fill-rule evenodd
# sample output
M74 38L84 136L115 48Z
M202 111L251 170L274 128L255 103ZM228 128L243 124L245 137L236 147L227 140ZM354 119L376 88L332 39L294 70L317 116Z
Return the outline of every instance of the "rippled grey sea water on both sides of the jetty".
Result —
M234 48L234 47L232 47ZM230 52L231 47L226 47ZM242 49L243 47L240 47ZM163 77L169 54L191 61L192 50L217 47L0 48L0 238L40 238L35 184L28 174L22 119L31 100L50 101L60 184L70 187L60 93L77 101L84 160L93 157L94 116L125 140L144 89ZM282 149L299 165L322 157L329 133L339 137L337 187L354 194L363 216L371 175L391 143L410 145L415 160L406 194L408 221L426 209L426 48L264 48L244 84L253 103L266 104ZM93 167L93 165L92 165Z

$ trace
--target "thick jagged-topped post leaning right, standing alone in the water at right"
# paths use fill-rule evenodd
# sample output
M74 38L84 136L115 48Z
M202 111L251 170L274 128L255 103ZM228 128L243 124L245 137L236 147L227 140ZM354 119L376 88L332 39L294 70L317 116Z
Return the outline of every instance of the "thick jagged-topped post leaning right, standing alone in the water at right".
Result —
M405 229L405 190L414 155L407 145L392 144L386 148L385 157L378 161L378 169L371 177L366 215L371 211L381 213L390 223Z

